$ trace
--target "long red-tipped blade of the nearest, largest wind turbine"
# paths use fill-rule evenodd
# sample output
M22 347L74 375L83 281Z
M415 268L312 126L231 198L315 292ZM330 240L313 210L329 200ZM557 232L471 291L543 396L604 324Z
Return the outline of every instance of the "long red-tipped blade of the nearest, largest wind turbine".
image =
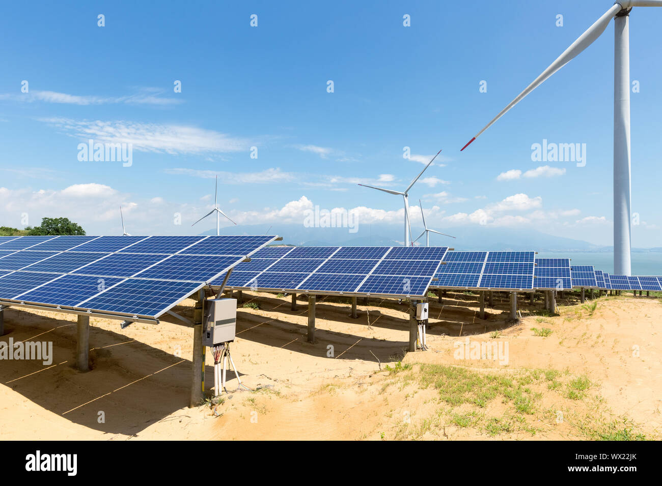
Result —
M492 124L494 122L496 122L496 120L498 120L504 114L506 114L506 112L508 110L510 110L510 108L512 108L513 106L518 104L518 102L522 101L522 99L524 99L524 97L526 97L526 95L528 95L529 93L534 91L534 89L536 89L538 86L540 86L547 78L549 78L551 75L553 75L553 73L555 73L556 71L561 69L561 67L563 67L570 60L575 58L575 56L577 56L577 54L581 53L583 50L585 50L587 47L589 47L593 43L594 40L596 40L598 37L600 37L600 34L602 34L602 32L604 32L605 28L607 28L607 26L609 25L609 22L614 18L614 15L616 15L622 8L623 7L621 7L620 4L614 3L614 5L612 5L612 8L610 8L608 11L606 11L602 15L602 17L600 17L600 19L596 20L592 24L592 26L587 28L587 30L585 30L584 33L581 34L581 36L579 36L577 38L577 40L575 40L575 42L573 42L570 45L569 48L567 48L565 51L563 51L563 54L561 54L561 56L556 58L556 60L553 63L551 63L547 67L547 69L542 71L542 74L540 76L538 76L536 79L534 79L534 81L530 85L528 85L526 87L526 89L524 89L524 91L522 91L522 93L517 95L517 97L513 101L508 103L506 108L501 110L498 115L496 115L494 118L492 118L491 122L489 122L487 125L485 125L485 127L483 127L483 129L480 132L478 132L474 138L469 140L469 142L467 142L467 144L464 147L462 147L462 149L460 151L467 148L467 145L469 145L469 143L476 140L483 132L485 132L485 130L490 128L492 126Z

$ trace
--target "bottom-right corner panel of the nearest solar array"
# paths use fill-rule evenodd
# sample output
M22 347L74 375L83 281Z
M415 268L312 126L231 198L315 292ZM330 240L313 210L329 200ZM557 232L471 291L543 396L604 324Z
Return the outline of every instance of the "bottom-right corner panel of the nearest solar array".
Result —
M199 282L164 282L129 278L117 286L106 288L96 297L76 304L75 307L158 317L202 285Z

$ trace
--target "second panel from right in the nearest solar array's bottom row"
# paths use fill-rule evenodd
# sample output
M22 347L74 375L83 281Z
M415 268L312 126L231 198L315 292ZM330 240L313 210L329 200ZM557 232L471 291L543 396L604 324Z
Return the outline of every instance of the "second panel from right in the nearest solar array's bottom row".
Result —
M48 302L52 305L73 307L83 300L99 294L121 282L121 278L87 275L64 275L38 288L28 290L15 298L24 302Z

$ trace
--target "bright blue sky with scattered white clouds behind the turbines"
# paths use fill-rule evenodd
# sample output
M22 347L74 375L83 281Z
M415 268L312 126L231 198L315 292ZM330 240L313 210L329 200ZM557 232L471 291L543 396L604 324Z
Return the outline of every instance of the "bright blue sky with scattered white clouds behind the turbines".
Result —
M355 210L359 223L400 224L401 198L357 182L402 190L442 148L410 192L414 225L421 198L441 231L513 225L611 245L613 23L459 151L610 5L5 5L0 225L68 216L90 234L117 234L121 203L133 233L198 233L215 225L191 228L213 207L216 174L220 207L238 223L277 230L318 205ZM661 20L662 9L630 16L630 75L640 87L631 95L636 247L662 241ZM79 161L89 138L131 142L132 165ZM532 161L532 144L544 139L585 143L585 167Z

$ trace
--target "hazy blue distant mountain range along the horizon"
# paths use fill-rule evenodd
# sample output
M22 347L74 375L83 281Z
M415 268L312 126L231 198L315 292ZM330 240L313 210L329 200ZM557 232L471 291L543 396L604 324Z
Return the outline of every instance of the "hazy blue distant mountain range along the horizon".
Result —
M404 229L402 225L372 224L361 225L359 231L350 233L348 228L315 228L301 224L276 224L269 229L268 224L227 226L220 229L225 235L279 235L284 245L305 246L398 246L402 245ZM412 227L414 238L422 233L422 228ZM613 247L592 245L587 241L547 235L534 229L513 229L490 226L461 226L446 230L455 239L430 234L430 245L449 246L458 251L522 251L545 252L596 252L611 253ZM215 229L201 233L216 234ZM425 236L418 243L425 245ZM662 251L657 249L633 249L632 251Z

